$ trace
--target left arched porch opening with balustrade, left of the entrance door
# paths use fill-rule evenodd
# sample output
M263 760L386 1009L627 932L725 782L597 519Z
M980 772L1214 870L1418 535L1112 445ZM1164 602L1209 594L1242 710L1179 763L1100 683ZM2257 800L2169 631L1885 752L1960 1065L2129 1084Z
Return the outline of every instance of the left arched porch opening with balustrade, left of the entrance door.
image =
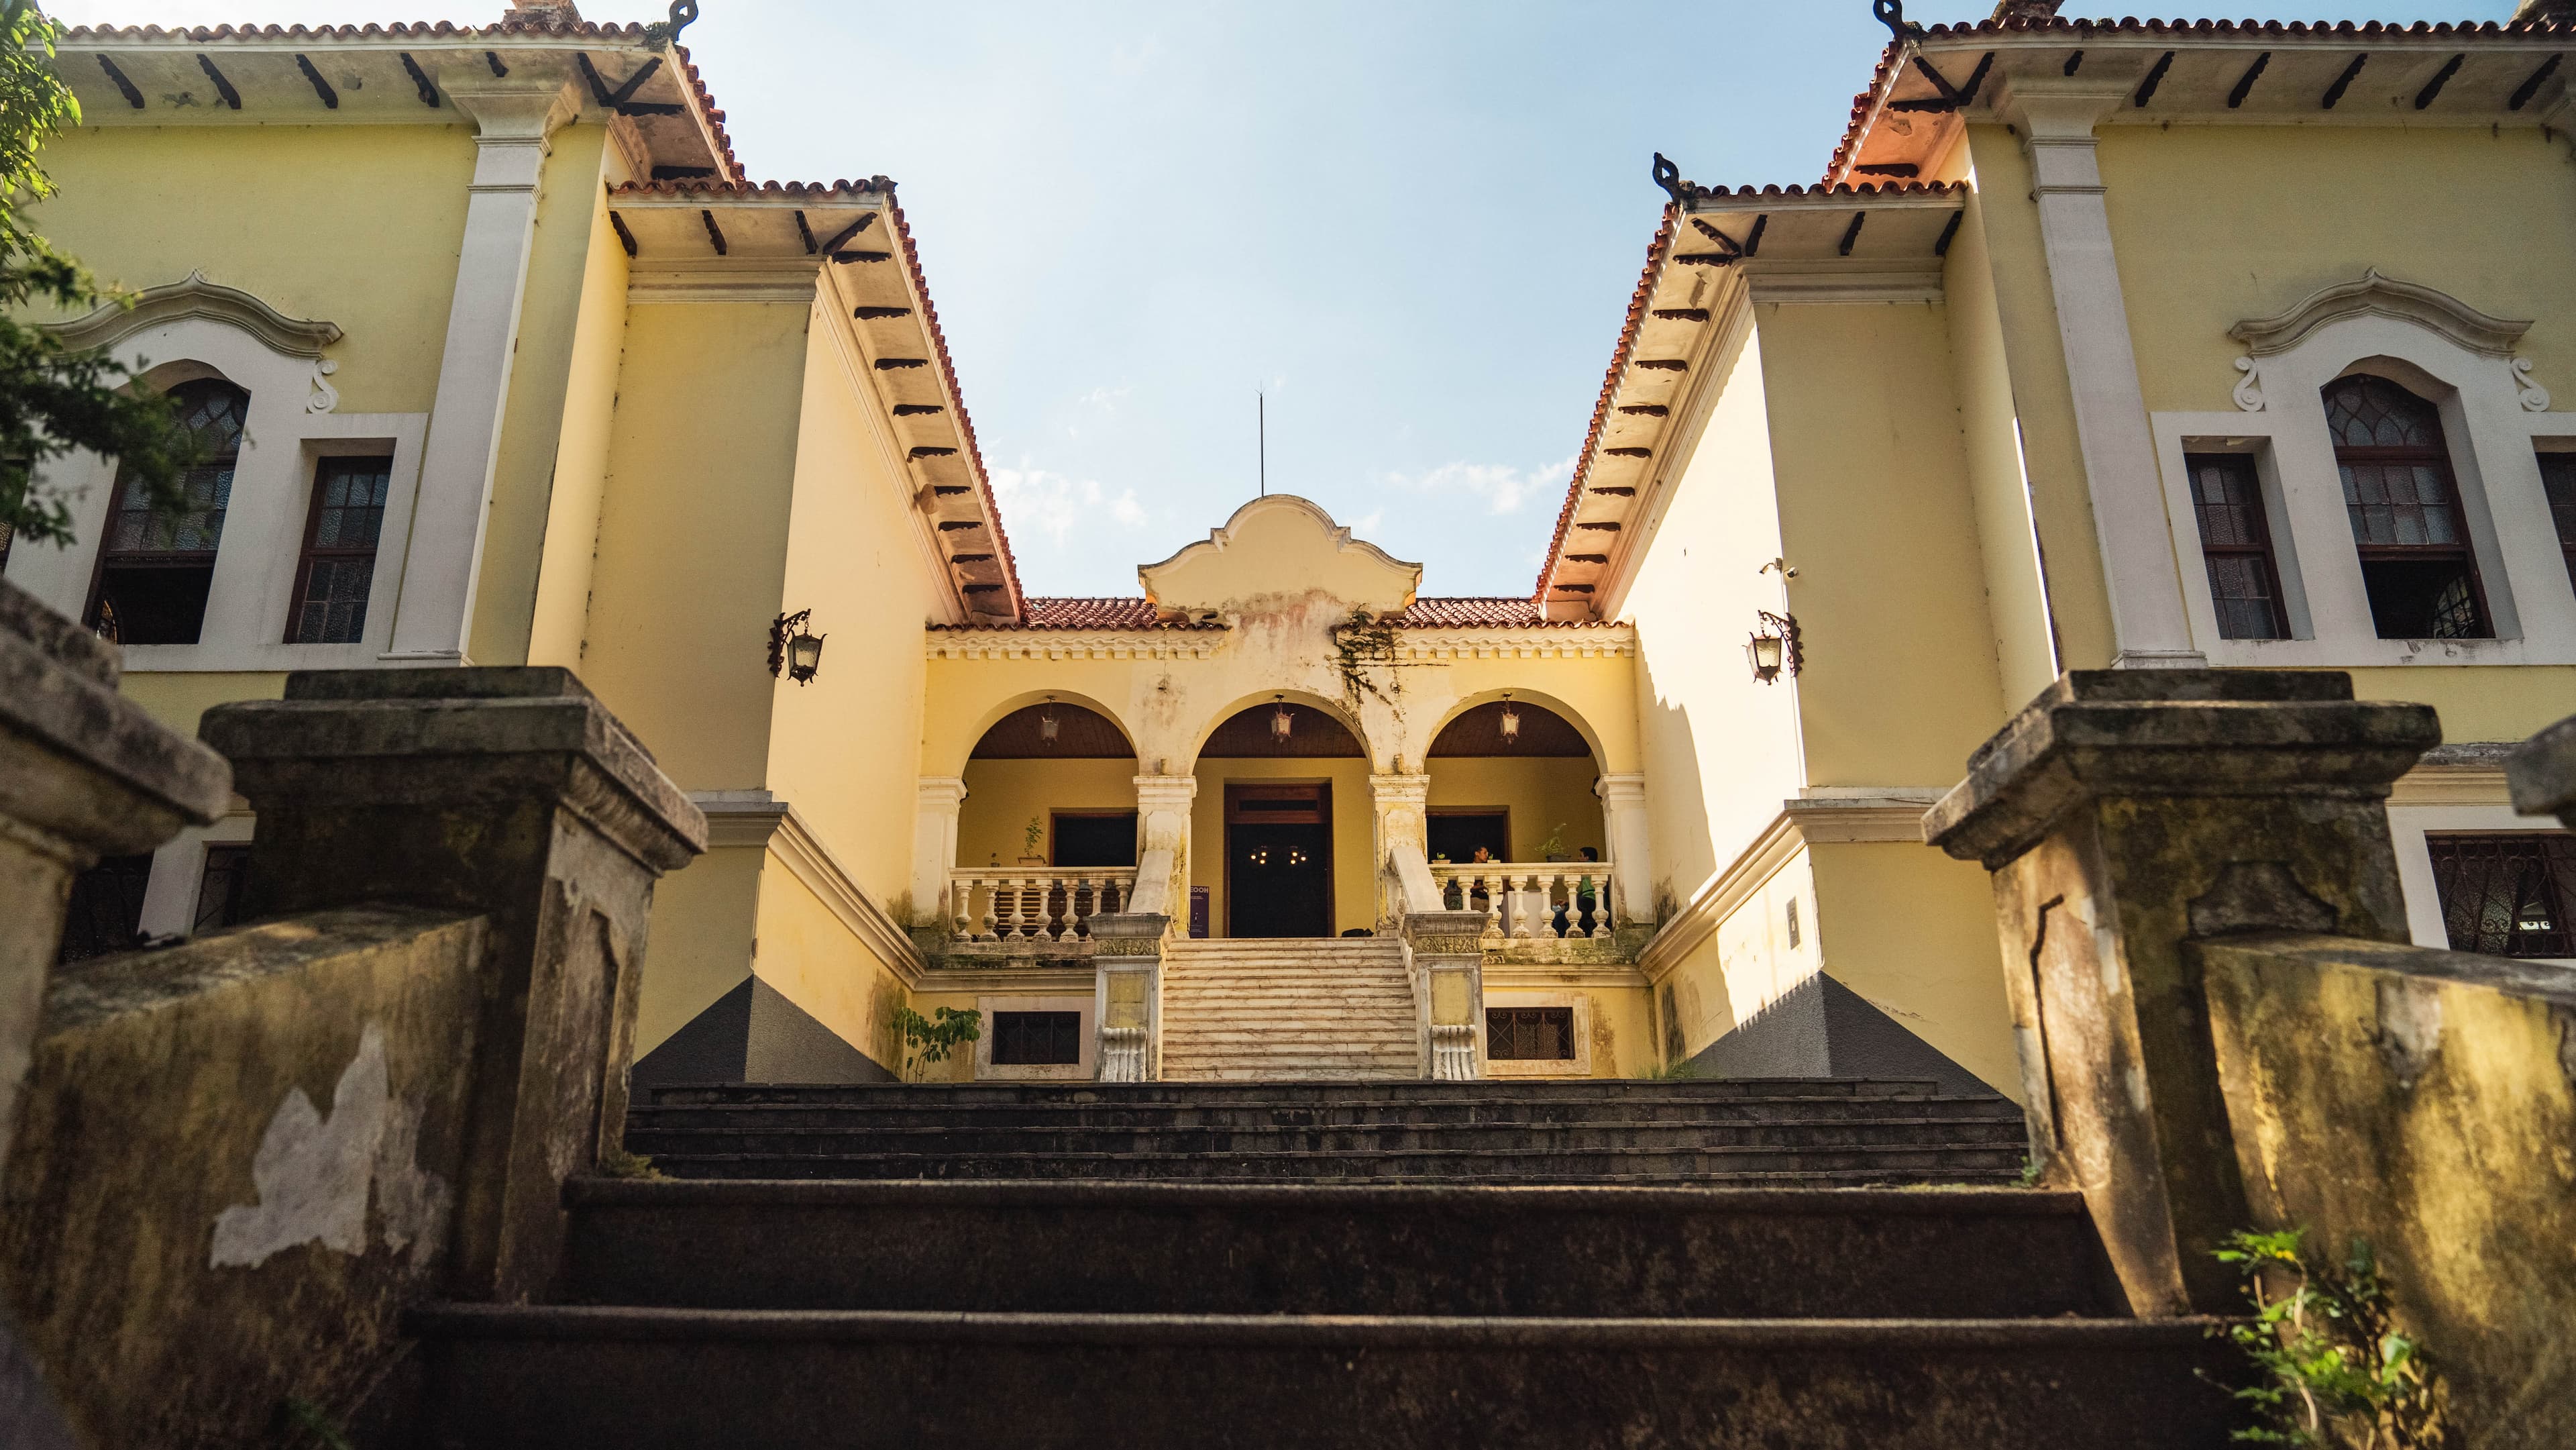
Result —
M966 757L951 914L966 940L1072 943L1136 883L1136 747L1054 695L997 719Z

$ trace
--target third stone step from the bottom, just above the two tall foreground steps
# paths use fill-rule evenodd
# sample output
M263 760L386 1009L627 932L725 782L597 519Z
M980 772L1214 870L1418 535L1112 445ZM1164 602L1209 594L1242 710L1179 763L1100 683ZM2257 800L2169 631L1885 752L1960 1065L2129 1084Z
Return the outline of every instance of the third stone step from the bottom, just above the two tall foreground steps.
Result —
M793 1136L788 1136L793 1138ZM811 1151L791 1151L781 1138L744 1141L742 1151L652 1154L675 1177L935 1177L935 1180L1476 1180L1476 1182L1723 1182L1734 1174L1819 1177L1837 1172L1914 1174L1914 1182L1953 1182L1955 1174L2014 1177L2020 1144L1917 1141L1847 1146L1690 1146L1690 1149L1340 1149L1340 1151L884 1151L814 1136ZM1965 1182L1965 1180L1960 1180Z

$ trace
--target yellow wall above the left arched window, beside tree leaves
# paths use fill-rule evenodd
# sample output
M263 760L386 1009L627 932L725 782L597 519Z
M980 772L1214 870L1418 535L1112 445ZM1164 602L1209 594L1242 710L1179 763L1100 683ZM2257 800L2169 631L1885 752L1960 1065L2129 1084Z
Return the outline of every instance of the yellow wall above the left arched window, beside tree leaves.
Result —
M85 126L46 142L44 167L62 193L36 229L103 281L204 270L289 317L337 322L340 412L430 410L471 129Z

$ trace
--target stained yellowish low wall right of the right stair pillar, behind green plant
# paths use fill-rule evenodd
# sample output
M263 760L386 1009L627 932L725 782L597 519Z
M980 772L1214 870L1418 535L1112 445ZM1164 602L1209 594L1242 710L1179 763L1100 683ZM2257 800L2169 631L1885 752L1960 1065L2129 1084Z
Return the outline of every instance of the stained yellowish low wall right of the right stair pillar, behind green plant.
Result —
M2576 1445L2576 974L2303 935L2200 961L2251 1218L2378 1249L2468 1445Z

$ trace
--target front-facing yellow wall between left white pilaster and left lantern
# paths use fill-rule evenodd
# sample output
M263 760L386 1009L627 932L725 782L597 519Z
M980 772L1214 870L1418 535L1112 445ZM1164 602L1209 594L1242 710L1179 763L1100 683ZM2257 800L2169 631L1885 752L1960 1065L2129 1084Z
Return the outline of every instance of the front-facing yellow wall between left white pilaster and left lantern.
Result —
M685 791L768 783L806 309L629 309L582 680ZM907 788L909 796L909 788Z

